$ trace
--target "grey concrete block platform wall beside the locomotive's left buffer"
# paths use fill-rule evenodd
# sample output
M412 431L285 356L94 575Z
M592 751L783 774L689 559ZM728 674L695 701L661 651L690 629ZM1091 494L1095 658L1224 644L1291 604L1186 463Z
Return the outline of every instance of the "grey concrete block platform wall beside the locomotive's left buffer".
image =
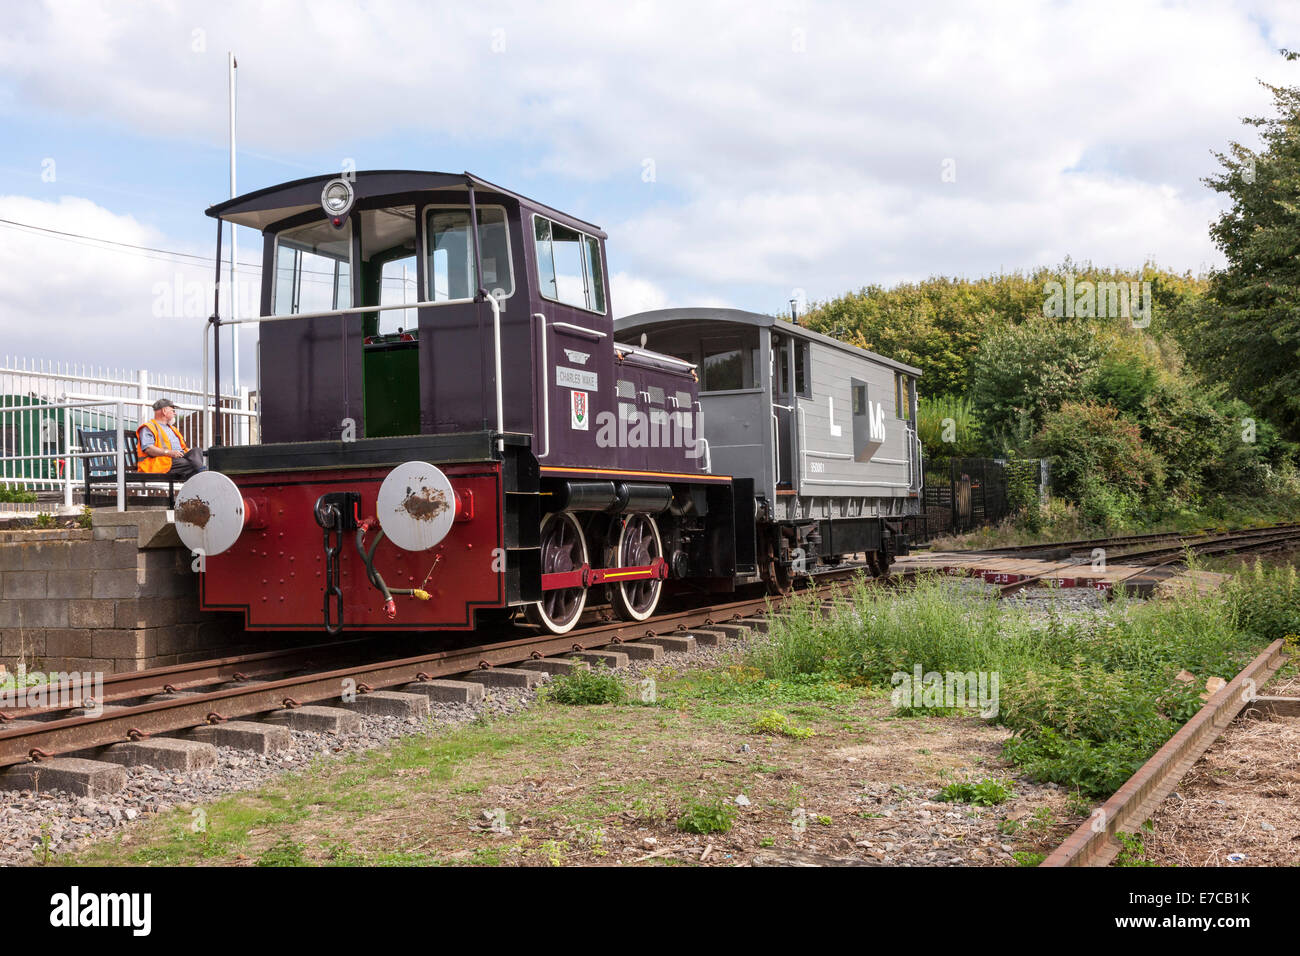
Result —
M91 529L0 531L0 663L136 671L255 649L234 614L199 611L199 576L165 511L95 511Z

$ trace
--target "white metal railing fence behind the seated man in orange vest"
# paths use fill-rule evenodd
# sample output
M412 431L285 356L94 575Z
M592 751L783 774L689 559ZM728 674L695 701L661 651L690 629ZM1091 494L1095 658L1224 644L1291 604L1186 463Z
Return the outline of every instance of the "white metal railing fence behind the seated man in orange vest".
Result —
M78 432L134 432L153 416L151 406L159 398L176 403L176 427L186 442L196 447L211 444L212 401L204 403L202 382L195 378L4 356L0 363L0 488L62 492L64 505L70 506L73 492L83 480L87 457ZM256 395L248 389L240 389L238 395L222 395L220 415L228 444L257 444ZM135 463L129 462L127 467L134 468ZM14 506L0 507L12 510Z

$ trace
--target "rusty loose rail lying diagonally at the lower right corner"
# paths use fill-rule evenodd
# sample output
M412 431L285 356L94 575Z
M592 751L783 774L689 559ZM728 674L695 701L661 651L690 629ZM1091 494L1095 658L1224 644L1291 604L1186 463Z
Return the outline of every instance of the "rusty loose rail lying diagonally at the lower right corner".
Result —
M1223 728L1256 697L1282 666L1282 640L1248 663L1136 774L1057 847L1041 866L1105 866L1119 853L1117 832L1132 832L1164 803Z

